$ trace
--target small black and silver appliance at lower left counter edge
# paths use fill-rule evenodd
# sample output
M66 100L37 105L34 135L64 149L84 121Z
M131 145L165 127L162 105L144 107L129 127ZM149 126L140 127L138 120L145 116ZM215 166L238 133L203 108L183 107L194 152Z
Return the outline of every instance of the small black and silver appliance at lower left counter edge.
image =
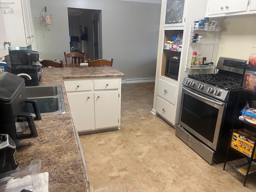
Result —
M8 134L0 134L0 174L18 168L16 145Z

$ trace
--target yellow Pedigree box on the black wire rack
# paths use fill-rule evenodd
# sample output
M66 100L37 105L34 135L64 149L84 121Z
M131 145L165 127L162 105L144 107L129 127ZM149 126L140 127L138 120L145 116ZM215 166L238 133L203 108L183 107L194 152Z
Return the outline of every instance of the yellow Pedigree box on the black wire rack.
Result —
M246 129L233 130L230 146L242 154L251 157L256 134ZM254 152L253 159L256 159Z

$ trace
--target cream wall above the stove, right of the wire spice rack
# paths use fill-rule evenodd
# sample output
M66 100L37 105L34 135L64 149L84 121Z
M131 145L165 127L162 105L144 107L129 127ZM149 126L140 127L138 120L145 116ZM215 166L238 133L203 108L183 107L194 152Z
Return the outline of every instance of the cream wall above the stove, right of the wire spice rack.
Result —
M224 19L218 58L223 56L247 60L251 53L256 53L255 23L255 15Z

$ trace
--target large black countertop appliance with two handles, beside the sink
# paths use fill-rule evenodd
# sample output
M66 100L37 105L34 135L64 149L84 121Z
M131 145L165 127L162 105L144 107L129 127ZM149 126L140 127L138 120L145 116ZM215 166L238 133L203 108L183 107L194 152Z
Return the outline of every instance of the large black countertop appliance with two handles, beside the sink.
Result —
M31 113L22 112L23 106L31 103L36 117ZM41 114L36 100L27 99L24 79L8 72L0 73L0 133L8 134L16 147L21 139L38 136L34 120L41 120ZM17 134L18 122L26 122L30 133Z

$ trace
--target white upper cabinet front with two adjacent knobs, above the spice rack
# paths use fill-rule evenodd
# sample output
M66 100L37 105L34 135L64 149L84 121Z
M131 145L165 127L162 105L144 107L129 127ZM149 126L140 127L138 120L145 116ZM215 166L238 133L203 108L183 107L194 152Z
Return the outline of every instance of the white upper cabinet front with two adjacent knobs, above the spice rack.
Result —
M208 0L208 15L247 11L248 0Z

